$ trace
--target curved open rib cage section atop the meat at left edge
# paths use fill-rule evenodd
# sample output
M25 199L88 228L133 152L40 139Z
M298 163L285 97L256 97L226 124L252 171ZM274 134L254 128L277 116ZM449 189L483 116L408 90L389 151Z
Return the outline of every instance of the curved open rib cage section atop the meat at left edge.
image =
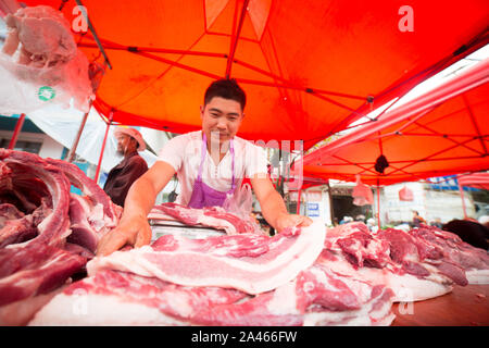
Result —
M68 238L95 252L98 240L117 225L122 208L76 165L5 149L0 160L0 246L21 247L21 240L37 238L64 245ZM70 194L71 184L85 195Z

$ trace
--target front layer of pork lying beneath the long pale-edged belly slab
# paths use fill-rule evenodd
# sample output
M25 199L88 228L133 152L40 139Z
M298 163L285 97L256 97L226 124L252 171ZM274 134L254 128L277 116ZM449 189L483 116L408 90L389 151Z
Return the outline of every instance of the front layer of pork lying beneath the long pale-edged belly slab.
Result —
M105 270L55 296L29 325L389 325L391 298L323 266L258 296Z

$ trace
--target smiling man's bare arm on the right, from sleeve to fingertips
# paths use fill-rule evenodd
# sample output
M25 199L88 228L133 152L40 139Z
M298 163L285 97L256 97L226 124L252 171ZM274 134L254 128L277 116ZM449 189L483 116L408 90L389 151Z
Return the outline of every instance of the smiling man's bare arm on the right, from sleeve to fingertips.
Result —
M269 178L265 177L265 174L256 174L250 182L260 207L262 207L263 217L277 232L290 226L309 226L312 223L308 216L287 212L284 199L275 190Z

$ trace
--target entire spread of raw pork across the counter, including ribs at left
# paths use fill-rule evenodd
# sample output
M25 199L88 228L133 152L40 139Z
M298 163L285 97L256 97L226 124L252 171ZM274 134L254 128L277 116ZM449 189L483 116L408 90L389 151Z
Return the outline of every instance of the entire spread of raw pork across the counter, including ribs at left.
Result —
M103 191L61 161L5 150L0 159L2 319L30 308L29 325L389 325L393 302L489 283L488 252L436 227L372 233L316 222L268 237L222 209L175 203L149 217L226 234L170 234L93 257L120 214ZM70 183L84 195L68 194ZM87 276L67 284L80 269Z

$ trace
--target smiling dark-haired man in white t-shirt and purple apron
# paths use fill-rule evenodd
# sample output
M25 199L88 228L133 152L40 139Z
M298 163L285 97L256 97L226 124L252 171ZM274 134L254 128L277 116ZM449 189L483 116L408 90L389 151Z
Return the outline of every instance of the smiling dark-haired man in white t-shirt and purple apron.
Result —
M147 215L175 173L181 186L177 203L198 209L223 207L248 177L264 219L275 231L312 223L310 217L287 212L266 175L264 150L236 136L244 105L246 94L235 79L218 79L208 87L200 107L202 129L179 135L163 147L159 160L129 189L120 225L101 239L98 254L151 241Z

